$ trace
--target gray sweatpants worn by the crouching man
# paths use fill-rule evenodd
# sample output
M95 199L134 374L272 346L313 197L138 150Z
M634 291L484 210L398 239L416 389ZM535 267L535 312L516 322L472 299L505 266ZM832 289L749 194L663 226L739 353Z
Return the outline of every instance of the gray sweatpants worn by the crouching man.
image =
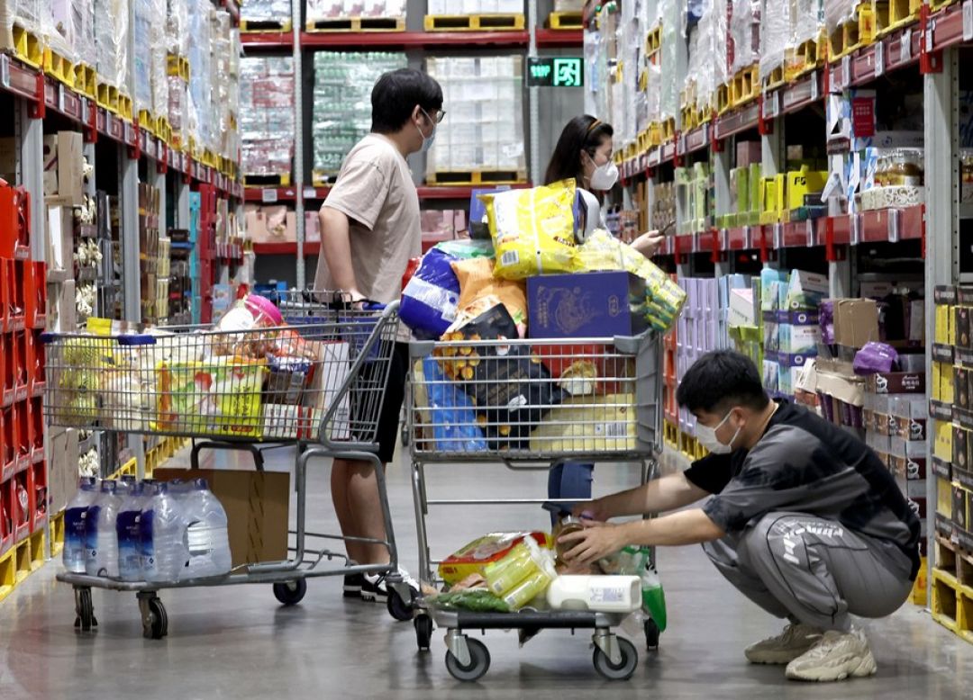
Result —
M822 630L847 632L850 614L891 614L913 587L901 552L801 513L768 513L742 533L704 543L703 550L765 611Z

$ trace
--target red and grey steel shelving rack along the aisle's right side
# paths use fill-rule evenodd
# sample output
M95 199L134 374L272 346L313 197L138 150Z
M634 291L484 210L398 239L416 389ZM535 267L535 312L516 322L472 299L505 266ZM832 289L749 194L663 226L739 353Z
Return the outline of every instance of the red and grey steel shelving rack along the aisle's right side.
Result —
M586 8L586 22L597 3ZM712 169L716 217L729 213L729 145L739 134L757 134L761 142L765 176L780 171L784 149L784 118L802 110L820 109L829 93L873 84L883 76L917 70L923 88L924 204L915 207L832 214L811 221L757 226L706 227L702 232L667 237L659 258L679 276L692 276L698 269L717 276L733 271L733 260L746 253L762 265L778 266L789 251L823 250L828 265L831 297L852 295L856 249L877 243L919 241L924 261L926 299L926 374L931 376L935 337L934 292L937 286L960 281L959 222L973 218L973 209L959 204L958 115L960 108L960 53L970 51L973 42L973 0L963 0L936 10L925 6L917 18L885 32L881 38L827 62L790 83L765 87L758 98L736 109L682 129L676 117L671 139L651 148L627 149L616 144L627 157L620 159L624 204L631 208L631 186L647 185L646 205L651 209L653 188L661 182L667 165L681 165L691 158L708 158ZM682 47L685 52L685 47ZM969 53L964 61L968 64ZM681 61L685 71L685 54ZM824 133L821 134L822 139ZM682 214L677 207L677 220ZM715 222L710 222L714 224ZM677 221L678 229L680 221ZM914 242L912 245L916 245ZM703 272L706 274L707 272ZM934 402L933 402L934 403ZM933 616L973 642L973 589L964 588L948 570L955 566L949 551L939 553L947 561L936 561L937 487L931 456L935 425L950 422L952 406L931 405L927 429L929 473L926 478L927 548L929 586L926 602ZM667 425L667 442L698 456L698 445L686 440L676 426ZM937 593L934 596L933 590ZM953 597L955 596L955 598ZM950 612L952 611L952 614Z

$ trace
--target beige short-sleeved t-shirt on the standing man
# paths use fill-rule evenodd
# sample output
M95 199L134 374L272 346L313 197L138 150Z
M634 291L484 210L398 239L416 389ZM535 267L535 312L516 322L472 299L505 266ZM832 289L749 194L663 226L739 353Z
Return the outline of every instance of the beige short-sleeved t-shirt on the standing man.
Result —
M381 134L359 141L344 157L323 206L348 217L358 291L382 303L401 297L409 260L422 255L422 228L412 173L395 144ZM324 255L317 260L314 287L335 289Z

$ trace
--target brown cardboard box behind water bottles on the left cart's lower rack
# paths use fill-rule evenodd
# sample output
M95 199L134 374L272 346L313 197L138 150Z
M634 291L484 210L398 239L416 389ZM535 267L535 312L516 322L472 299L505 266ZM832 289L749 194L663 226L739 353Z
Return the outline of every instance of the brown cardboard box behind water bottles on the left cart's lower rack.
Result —
M206 479L227 511L234 567L287 558L289 473L162 468L152 475L160 481Z

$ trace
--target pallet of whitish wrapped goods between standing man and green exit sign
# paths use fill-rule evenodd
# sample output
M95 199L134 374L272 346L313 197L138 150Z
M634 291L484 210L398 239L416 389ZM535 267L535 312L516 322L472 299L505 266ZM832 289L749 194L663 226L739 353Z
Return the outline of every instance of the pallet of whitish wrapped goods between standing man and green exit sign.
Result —
M426 71L443 88L450 118L426 159L435 185L526 180L523 148L523 57L429 57Z

